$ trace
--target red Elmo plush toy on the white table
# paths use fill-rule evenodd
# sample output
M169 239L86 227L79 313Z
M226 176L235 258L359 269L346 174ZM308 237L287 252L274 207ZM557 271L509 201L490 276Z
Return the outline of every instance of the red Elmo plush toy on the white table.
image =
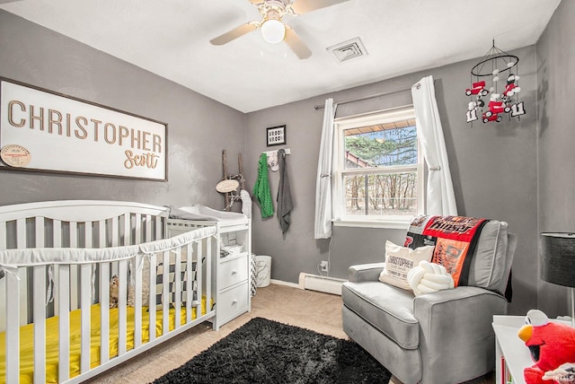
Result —
M551 378L543 379L545 372L554 371L566 362L575 362L575 328L549 321L541 310L527 312L526 325L519 329L518 336L535 362L523 372L527 384L550 384Z

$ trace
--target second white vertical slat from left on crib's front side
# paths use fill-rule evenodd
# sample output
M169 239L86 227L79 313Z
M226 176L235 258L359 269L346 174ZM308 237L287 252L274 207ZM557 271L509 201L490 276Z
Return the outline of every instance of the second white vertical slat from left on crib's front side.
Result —
M46 366L46 266L33 267L34 367ZM34 370L34 382L46 382L46 370Z

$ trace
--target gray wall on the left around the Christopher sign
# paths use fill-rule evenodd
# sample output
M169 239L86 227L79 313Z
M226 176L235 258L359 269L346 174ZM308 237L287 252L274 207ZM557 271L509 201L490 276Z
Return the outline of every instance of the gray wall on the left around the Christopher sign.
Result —
M0 205L113 199L223 208L221 153L237 171L245 115L205 96L0 10L0 76L168 125L168 181L0 170Z

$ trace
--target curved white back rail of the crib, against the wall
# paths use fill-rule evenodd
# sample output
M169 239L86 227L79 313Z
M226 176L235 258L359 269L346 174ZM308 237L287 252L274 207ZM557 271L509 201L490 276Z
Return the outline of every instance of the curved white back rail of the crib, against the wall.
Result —
M0 250L26 248L105 248L140 244L167 237L168 209L164 206L101 200L61 200L0 206ZM117 273L117 271L113 271ZM37 272L40 274L40 272ZM59 273L57 269L56 274ZM70 281L79 279L77 266L71 266ZM24 287L33 278L31 269L20 270ZM0 277L4 272L0 270ZM1 282L1 281L0 281ZM21 300L31 302L21 289ZM78 308L78 290L72 290L70 303ZM4 286L0 284L0 296ZM57 301L56 301L57 304ZM22 325L32 321L31 307L20 306ZM49 313L53 314L49 308ZM6 309L0 301L0 331L4 330Z

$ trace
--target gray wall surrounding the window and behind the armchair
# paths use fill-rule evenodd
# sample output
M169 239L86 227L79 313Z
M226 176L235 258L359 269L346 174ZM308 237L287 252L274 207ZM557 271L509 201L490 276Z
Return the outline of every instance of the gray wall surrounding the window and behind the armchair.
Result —
M486 41L486 50L491 41ZM513 52L519 57L521 99L527 114L520 121L504 119L499 124L465 122L469 98L470 70L479 60L442 66L408 74L381 83L326 94L276 108L248 114L247 179L254 180L261 151L266 151L265 128L287 125L288 171L295 209L292 227L285 236L276 217L262 220L254 207L253 249L272 257L271 277L296 282L300 272L317 273L321 260L331 261L330 275L346 277L350 265L384 260L385 240L403 242L404 231L336 227L329 240L314 240L315 173L322 131L323 105L327 97L349 100L358 96L410 89L421 77L433 75L436 96L446 137L450 168L456 189L459 214L506 221L520 243L513 266L514 300L510 310L525 313L535 307L536 296L536 71L535 46ZM345 64L344 64L345 65ZM326 68L329 70L329 68ZM349 70L353 70L349 63ZM345 104L338 117L411 103L411 92L400 92L376 100ZM278 175L270 172L272 195L276 196ZM252 184L250 185L252 187Z

